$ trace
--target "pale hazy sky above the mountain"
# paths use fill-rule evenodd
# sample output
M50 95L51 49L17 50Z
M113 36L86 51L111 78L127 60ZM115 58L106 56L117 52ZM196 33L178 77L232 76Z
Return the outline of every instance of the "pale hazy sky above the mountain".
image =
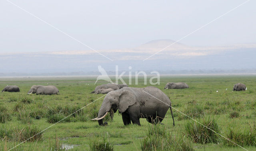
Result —
M178 40L246 0L10 0L98 49ZM256 43L256 1L226 14L180 43L191 46ZM0 1L0 52L89 50L6 0Z

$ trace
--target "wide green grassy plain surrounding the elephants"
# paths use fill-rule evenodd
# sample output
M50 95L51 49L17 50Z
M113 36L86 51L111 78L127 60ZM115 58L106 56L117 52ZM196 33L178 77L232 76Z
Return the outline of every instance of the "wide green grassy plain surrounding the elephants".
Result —
M256 124L254 123L256 120L256 76L165 76L160 80L160 85L156 87L170 98L176 110L201 122L210 117L214 119L214 124L218 126L217 130L221 135L248 150L256 150ZM128 79L125 81L128 83ZM186 82L190 88L163 89L165 84L171 81ZM0 150L11 149L39 131L52 126L58 120L104 96L104 94L90 93L95 88L94 82L95 78L88 77L1 78L0 88L6 85L17 85L20 87L20 92L0 93ZM149 79L147 82L149 83ZM237 82L246 84L248 89L233 92L232 88ZM103 83L106 82L101 81L97 84ZM145 87L142 78L139 78L138 85L135 85L134 79L132 83L130 85L132 87ZM59 88L60 95L26 94L32 85L38 84L55 85ZM74 148L70 150L90 150L90 145L101 141L105 144L106 141L116 151L141 150L144 141L151 140L147 131L152 125L145 119L140 119L142 126L124 126L122 116L117 112L114 114L113 121L110 121L109 116L106 118L108 126L98 126L98 122L91 121L90 118L97 115L103 99L104 97L100 98L15 149L60 150L61 147L72 146ZM191 145L192 149L198 151L242 150L241 147L219 136L213 136L213 141L195 139L192 133L208 135L210 132L206 133L202 127L193 129L196 124L176 110L173 110L176 126L172 126L171 114L168 111L162 122L164 125L159 126L164 129L166 135L157 136L158 139L169 140L172 137L174 138L171 141L172 144L179 142L175 141L175 138L183 139L185 145ZM200 130L204 132L201 133ZM163 142L161 140L160 145L163 146ZM165 141L165 143L168 142ZM156 148L156 150L161 150L161 148Z

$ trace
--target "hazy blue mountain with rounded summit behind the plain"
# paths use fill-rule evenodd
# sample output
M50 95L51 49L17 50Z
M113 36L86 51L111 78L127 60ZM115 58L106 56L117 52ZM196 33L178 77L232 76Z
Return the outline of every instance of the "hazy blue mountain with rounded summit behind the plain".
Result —
M88 73L97 72L98 65L106 71L115 71L116 65L119 71L256 69L255 44L190 47L169 39L160 39L130 49L96 51L113 61L92 50L2 53L0 75L1 73ZM129 66L132 69L129 69Z

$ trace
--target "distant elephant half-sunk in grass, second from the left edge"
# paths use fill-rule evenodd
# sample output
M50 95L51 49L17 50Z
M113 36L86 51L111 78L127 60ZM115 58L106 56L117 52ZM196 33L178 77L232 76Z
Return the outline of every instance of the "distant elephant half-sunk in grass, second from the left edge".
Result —
M45 95L58 94L58 93L60 94L58 88L52 85L49 85L49 86L33 85L28 91L28 94L31 94L31 93L45 94Z

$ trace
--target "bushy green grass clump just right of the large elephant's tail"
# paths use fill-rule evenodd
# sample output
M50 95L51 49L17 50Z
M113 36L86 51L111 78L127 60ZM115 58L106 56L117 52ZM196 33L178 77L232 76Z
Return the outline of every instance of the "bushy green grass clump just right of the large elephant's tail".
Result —
M192 121L186 122L185 131L188 133L188 136L191 137L195 143L218 143L219 135L214 132L220 133L217 119L208 116L200 118L198 122L202 125ZM206 128L206 126L214 131Z

